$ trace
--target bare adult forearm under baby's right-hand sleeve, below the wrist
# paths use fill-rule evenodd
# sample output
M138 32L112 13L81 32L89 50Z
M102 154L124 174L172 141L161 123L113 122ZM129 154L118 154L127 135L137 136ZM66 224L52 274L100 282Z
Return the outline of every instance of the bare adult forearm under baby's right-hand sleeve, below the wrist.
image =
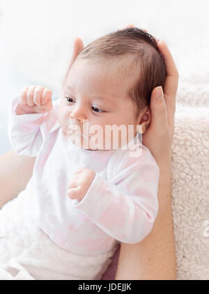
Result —
M121 244L116 279L176 279L170 167L166 161L160 166L159 212L153 230L138 244Z

